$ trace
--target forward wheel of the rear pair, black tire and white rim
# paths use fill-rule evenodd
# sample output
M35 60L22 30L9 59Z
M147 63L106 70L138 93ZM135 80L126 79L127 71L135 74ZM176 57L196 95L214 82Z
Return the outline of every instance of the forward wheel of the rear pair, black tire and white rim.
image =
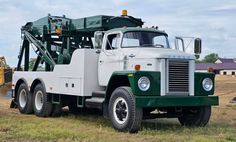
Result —
M33 93L34 114L39 117L48 117L52 112L52 103L42 84L38 84Z

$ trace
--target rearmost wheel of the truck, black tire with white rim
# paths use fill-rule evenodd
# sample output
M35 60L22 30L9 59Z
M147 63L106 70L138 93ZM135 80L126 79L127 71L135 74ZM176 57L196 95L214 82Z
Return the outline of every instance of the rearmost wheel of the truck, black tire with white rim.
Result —
M22 83L17 91L17 106L20 113L33 113L32 95L25 83Z

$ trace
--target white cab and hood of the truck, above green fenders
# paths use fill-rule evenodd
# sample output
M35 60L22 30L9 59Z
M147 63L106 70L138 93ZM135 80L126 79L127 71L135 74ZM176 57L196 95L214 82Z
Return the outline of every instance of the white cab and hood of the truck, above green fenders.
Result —
M101 86L108 84L115 71L135 71L137 67L142 71L160 71L161 62L166 59L190 61L188 72L194 72L194 55L172 49L168 35L163 31L154 28L120 28L105 32L100 40L103 43L100 45L98 62Z

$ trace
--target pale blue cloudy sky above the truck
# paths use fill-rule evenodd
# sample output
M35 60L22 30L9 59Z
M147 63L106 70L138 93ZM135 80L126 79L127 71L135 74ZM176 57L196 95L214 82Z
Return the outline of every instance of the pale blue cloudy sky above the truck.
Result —
M0 0L0 56L15 67L21 46L20 28L26 22L51 15L82 18L94 15L142 18L144 27L158 26L175 36L200 37L201 57L217 53L236 58L235 0Z

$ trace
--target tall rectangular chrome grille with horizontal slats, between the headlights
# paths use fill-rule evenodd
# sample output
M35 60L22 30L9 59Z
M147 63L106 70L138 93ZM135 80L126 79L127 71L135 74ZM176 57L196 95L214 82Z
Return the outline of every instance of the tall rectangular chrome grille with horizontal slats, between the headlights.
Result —
M189 92L189 62L169 60L169 92Z

